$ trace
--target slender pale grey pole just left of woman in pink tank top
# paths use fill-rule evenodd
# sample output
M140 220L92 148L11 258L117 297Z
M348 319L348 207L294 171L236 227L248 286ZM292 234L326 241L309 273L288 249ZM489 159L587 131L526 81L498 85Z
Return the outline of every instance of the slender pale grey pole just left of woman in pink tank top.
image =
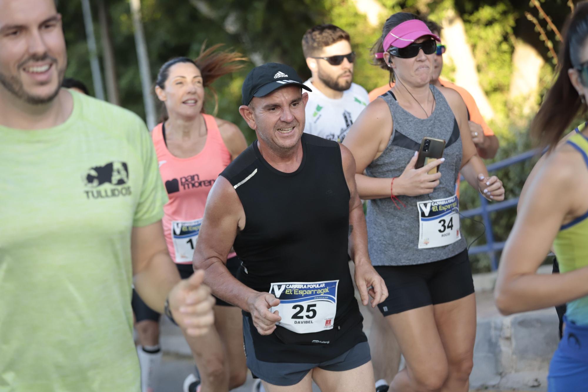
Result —
M129 0L129 2L131 3L131 12L133 15L133 29L135 30L135 46L139 61L139 74L141 74L145 118L147 127L153 129L155 127L155 103L151 94L151 68L149 67L145 32L143 31L143 22L141 21L141 0Z

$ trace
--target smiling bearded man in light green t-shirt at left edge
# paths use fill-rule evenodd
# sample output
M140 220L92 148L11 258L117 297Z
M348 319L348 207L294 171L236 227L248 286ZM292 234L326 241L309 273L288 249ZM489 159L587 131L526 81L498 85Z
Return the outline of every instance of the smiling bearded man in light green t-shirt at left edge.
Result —
M145 125L61 89L66 61L53 0L0 0L0 392L137 392L131 285L187 337L213 298L169 258Z

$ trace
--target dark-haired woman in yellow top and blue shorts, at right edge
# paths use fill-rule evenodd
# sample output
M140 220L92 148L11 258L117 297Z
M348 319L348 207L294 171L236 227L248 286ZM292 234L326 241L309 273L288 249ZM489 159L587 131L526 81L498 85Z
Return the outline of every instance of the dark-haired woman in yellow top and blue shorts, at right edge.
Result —
M531 128L552 151L520 202L496 282L496 305L512 314L567 303L563 338L549 368L549 392L588 384L588 131L557 142L588 96L588 2L566 28L559 75ZM561 274L539 275L549 248Z

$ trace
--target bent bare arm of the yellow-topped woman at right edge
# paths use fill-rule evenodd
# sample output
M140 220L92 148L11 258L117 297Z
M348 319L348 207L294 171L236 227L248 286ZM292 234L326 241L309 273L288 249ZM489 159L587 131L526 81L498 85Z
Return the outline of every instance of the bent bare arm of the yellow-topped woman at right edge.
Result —
M562 224L584 213L586 192L574 168L584 165L570 147L548 157L524 195L500 258L495 288L503 314L553 307L588 295L588 267L565 274L537 274ZM582 174L586 177L586 174Z

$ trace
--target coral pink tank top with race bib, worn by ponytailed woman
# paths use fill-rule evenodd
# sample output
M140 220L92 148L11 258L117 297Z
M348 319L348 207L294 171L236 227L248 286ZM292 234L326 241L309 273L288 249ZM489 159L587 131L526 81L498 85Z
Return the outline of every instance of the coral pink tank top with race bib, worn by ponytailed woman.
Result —
M202 117L206 124L206 142L202 151L190 158L178 158L169 152L163 139L163 123L156 125L151 134L159 172L169 197L163 206L163 232L169 255L177 264L192 264L206 197L220 172L231 161L215 118L208 114Z

